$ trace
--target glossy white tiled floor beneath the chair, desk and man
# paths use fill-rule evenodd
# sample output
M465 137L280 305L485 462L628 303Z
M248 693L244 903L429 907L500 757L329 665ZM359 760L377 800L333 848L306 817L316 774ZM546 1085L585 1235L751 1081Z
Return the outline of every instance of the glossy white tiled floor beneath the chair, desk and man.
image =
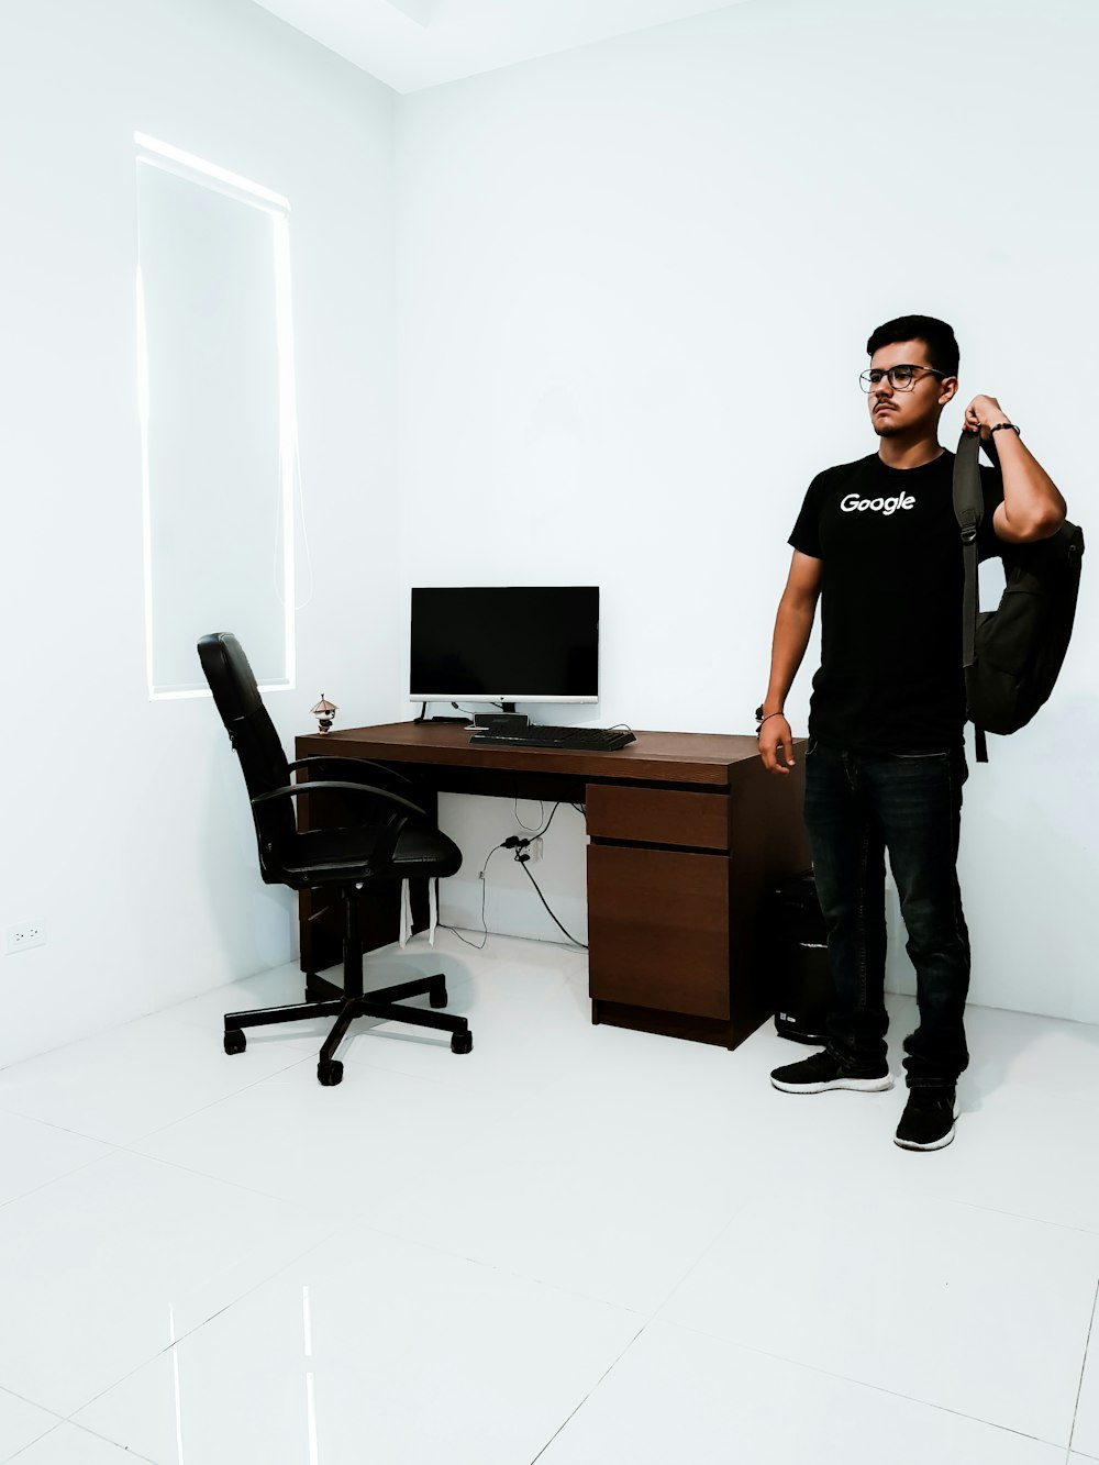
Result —
M286 968L0 1074L0 1461L1099 1461L1098 1030L972 1009L911 1154L900 1083L772 1090L769 1026L593 1028L577 952L441 933L372 980L409 967L470 1055L226 1058Z

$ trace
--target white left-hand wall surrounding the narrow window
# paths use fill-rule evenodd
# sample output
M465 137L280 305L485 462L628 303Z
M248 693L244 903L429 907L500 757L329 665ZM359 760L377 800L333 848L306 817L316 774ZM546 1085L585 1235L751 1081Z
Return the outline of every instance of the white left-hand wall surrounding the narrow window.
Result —
M133 132L292 204L315 592L289 741L325 691L391 715L400 659L393 94L248 0L35 0L0 35L4 815L0 1064L290 960L210 700L149 703ZM208 630L180 627L196 640Z

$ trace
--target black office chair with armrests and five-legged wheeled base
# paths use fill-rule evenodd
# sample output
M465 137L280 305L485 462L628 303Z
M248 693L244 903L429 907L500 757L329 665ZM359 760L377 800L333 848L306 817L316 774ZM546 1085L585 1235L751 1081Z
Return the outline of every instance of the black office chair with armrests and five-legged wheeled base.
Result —
M466 1018L402 1005L404 998L426 996L432 1008L445 1006L447 983L441 973L363 992L358 898L363 886L378 882L454 875L462 864L462 851L406 797L413 788L409 779L381 763L358 757L305 757L287 763L236 636L226 631L204 636L198 655L240 759L252 801L261 876L268 885L289 885L292 891L331 891L343 905L344 926L343 990L311 971L306 973L305 1002L227 1012L226 1052L245 1050L246 1027L330 1015L336 1017L336 1023L317 1064L317 1077L325 1086L338 1084L343 1078L336 1049L356 1017L437 1028L450 1033L451 1052L470 1052L473 1036ZM290 775L299 772L305 776L292 782ZM394 782L406 793L381 787ZM355 812L344 816L344 826L299 831L293 801L318 793L338 794L349 801ZM309 1001L325 990L338 995Z

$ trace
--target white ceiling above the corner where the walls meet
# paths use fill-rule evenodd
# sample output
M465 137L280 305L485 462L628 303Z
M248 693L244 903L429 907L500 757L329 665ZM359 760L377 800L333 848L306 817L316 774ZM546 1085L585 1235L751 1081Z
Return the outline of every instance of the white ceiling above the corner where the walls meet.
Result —
M255 0L399 92L744 0Z

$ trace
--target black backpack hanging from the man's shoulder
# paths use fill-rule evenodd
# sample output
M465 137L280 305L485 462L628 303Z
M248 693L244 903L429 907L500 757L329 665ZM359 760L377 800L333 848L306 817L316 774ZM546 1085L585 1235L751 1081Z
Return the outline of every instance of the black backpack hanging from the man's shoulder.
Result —
M1084 535L1078 524L1065 520L1049 539L1004 544L1004 593L995 611L982 612L977 604L977 527L985 516L977 467L980 445L979 432L961 434L954 460L954 513L966 564L961 609L966 712L976 732L977 762L986 763L985 734L1017 732L1054 690L1073 634Z

